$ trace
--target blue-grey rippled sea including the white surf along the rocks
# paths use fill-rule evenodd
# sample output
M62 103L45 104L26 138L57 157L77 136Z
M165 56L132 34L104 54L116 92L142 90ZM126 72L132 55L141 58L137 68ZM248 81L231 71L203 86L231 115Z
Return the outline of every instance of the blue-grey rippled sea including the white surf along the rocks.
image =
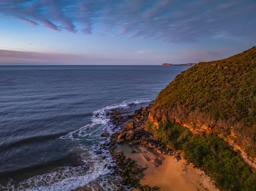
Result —
M105 113L154 100L187 68L0 66L0 190L70 191L104 182L111 159L95 151L105 141L100 134L113 131Z

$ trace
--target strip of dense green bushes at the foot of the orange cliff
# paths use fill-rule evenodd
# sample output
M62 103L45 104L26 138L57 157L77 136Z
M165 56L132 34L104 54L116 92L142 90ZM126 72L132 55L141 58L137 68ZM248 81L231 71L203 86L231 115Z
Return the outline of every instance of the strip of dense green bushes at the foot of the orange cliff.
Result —
M203 166L223 190L256 190L256 175L219 137L204 134L196 137L186 127L171 125L169 122L160 123L158 129L152 123L146 126L155 138L175 149L183 150L185 158L194 162L197 167Z

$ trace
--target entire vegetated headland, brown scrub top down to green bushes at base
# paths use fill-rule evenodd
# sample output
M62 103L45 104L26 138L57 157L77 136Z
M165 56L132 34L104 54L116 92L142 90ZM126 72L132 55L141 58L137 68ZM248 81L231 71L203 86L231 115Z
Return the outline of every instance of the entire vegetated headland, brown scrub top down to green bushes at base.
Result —
M178 74L158 94L146 128L204 167L221 189L256 191L255 172L224 142L236 143L255 159L256 46Z

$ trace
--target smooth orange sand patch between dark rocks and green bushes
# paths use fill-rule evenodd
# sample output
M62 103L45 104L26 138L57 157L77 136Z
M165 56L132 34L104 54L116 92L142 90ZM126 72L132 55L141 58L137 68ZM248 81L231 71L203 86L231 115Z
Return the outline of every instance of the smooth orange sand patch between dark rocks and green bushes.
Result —
M137 164L143 167L148 166L148 169L144 171L144 179L140 180L141 185L158 186L160 191L219 191L210 182L208 176L204 175L200 169L186 165L184 160L175 161L172 156L165 155L163 164L154 167L152 165L155 159L154 154L147 153L147 156L151 159L151 161L147 161L143 154L131 145L118 145L116 151L118 150L123 151L127 157L137 161ZM132 150L139 153L131 153Z

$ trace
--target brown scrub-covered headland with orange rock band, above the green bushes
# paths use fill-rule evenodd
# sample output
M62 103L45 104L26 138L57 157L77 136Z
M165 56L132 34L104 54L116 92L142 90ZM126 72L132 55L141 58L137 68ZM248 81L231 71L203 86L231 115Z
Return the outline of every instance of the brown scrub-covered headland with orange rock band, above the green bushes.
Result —
M157 96L148 120L217 134L256 170L256 47L178 74Z

